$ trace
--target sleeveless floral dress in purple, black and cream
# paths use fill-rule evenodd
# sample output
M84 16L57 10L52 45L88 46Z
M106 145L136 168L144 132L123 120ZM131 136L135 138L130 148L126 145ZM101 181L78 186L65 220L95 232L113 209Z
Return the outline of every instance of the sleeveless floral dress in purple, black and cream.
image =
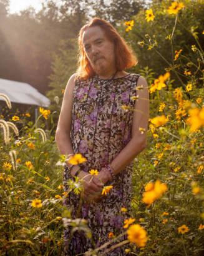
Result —
M134 108L138 74L127 74L122 78L76 81L73 96L72 126L70 138L74 153L81 153L87 160L82 163L82 170L100 171L104 165L111 163L131 138L133 111L124 111L122 105ZM69 191L67 180L74 180L67 166L64 167L64 188ZM92 238L87 238L82 230L71 232L67 227L64 232L65 255L85 255L90 248L97 248L105 242L111 242L109 233L115 236L125 230L127 218L120 210L130 211L132 183L132 163L105 184L113 188L102 196L98 203L79 208L80 197L70 192L64 198L64 205L71 210L72 218L87 220ZM79 208L79 210L78 210ZM124 240L123 236L120 241ZM111 245L113 245L112 243ZM111 246L109 245L109 247ZM105 255L127 255L123 248L116 248Z

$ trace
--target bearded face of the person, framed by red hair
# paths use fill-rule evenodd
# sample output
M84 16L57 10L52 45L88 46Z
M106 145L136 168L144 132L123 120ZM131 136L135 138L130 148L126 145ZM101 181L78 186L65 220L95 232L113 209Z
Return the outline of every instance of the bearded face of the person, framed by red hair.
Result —
M102 77L114 74L115 47L102 28L94 26L87 28L82 36L84 51L95 73Z

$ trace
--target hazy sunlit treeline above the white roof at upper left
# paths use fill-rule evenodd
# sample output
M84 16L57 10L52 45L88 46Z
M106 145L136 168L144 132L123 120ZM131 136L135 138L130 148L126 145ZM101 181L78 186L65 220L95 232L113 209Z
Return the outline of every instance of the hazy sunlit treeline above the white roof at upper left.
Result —
M115 25L137 14L142 2L62 0L57 6L46 0L38 13L29 8L9 14L9 0L0 0L0 78L29 83L45 94L50 90L54 58L65 49L69 56L76 56L75 40L87 20L97 16Z

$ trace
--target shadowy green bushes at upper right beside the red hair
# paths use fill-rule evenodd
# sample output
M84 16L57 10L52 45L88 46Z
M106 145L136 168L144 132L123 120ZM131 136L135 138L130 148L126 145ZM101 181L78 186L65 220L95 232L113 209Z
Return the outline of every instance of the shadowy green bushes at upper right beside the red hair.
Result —
M175 15L168 14L167 9L172 1L152 1L152 8L155 19L147 22L145 20L145 10L141 10L137 16L133 16L134 27L132 31L125 31L124 22L119 27L120 34L129 41L138 56L138 66L133 71L139 72L146 66L152 68L159 75L165 72L168 67L169 71L173 71L172 78L177 79L178 85L182 85L182 81L187 79L183 71L190 69L194 72L197 68L192 64L199 66L203 62L202 56L197 52L193 54L192 45L198 46L195 33L199 38L200 45L204 44L203 31L203 11L202 1L183 1L183 8L175 23ZM175 30L173 29L175 26ZM172 39L169 38L172 36ZM182 51L182 57L174 61L175 50ZM190 61L191 60L191 61ZM167 69L166 69L167 71ZM199 71L197 71L199 72ZM177 73L182 73L178 80ZM200 85L202 83L199 83Z

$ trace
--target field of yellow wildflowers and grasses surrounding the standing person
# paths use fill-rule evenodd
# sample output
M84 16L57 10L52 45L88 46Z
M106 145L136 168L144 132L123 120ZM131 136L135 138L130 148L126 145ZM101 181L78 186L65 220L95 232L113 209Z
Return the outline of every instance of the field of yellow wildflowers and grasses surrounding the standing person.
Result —
M158 23L158 16L172 20L166 37L144 34L143 40L138 41L146 56L155 51L166 66L158 75L148 67L140 71L150 85L149 129L140 128L148 135L148 145L134 161L132 217L124 222L127 240L115 245L124 246L128 255L204 255L204 52L200 43L204 26L189 29L181 21L190 13L192 3L204 9L201 0L162 1L122 25L131 41L142 16L148 26ZM178 23L185 27L192 44L182 41L180 47L174 41L175 35L182 34ZM169 42L170 59L161 53L160 44L164 41ZM7 96L0 96L11 108ZM131 110L124 106L124 111ZM4 116L0 119L2 256L61 255L62 220L76 228L86 225L70 220L69 209L62 206L62 197L69 196L62 186L65 158L57 150L53 133L45 129L45 122L52 121L53 113L43 108L39 113L36 123L28 112L13 115L9 121ZM80 159L75 158L76 163ZM97 172L92 170L91 174ZM78 179L71 184L76 193L79 183ZM110 189L104 188L103 193ZM121 211L127 214L125 208ZM117 241L114 233L107 233L107 237L110 243ZM97 255L97 250L89 255Z

